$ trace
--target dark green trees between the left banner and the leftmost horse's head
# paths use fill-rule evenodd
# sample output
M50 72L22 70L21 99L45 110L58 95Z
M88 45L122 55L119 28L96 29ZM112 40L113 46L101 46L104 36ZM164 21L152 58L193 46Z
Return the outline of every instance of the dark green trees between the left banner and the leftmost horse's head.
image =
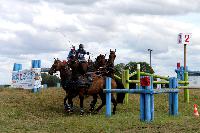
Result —
M60 83L60 79L57 76L48 75L42 73L42 84L47 84L48 87L56 87L57 83Z

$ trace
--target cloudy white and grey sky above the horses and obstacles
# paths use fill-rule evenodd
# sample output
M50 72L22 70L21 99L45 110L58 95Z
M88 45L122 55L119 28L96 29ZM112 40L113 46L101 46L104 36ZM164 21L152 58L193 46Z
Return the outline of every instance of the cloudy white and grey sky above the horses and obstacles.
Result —
M0 0L0 84L11 83L14 63L50 67L80 43L92 59L116 49L115 64L149 63L150 48L155 72L175 76L179 33L192 33L187 65L200 70L199 22L200 0Z

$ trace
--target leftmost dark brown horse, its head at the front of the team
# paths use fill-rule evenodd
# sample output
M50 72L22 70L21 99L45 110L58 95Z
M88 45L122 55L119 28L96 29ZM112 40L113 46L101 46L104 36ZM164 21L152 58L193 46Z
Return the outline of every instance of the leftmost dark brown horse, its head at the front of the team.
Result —
M86 87L85 86L83 87L82 85L78 84L77 80L72 79L72 70L70 70L67 62L62 62L59 59L55 59L52 67L49 70L49 74L53 75L53 73L56 73L57 71L60 72L61 85L66 92L66 96L64 98L65 110L67 110L68 112L73 111L72 98L76 97L77 95L79 95L79 97L80 97L80 104L81 104L80 107L82 107L83 106L82 98L84 98L84 94L86 93ZM80 77L82 77L82 76L80 76ZM99 78L96 78L95 74L94 74L93 78L95 79L94 84L96 84L96 79L99 79ZM94 86L94 84L93 84L93 86ZM100 85L98 85L98 86L101 87ZM94 87L92 87L92 88L94 88ZM96 92L96 88L94 88L94 89L90 89L87 91L87 92L89 92L88 94L90 94L94 97L94 100L90 104L90 106L91 106L90 111L94 110L93 105L94 105L94 103L96 104L96 102L97 102L98 92ZM67 100L68 100L68 102L66 102ZM104 102L102 102L102 103L104 103ZM81 114L83 114L82 110L81 110Z

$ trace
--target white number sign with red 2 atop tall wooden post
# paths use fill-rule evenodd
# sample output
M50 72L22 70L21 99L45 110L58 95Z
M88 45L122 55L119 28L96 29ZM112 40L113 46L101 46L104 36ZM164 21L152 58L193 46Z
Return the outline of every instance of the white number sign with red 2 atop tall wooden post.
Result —
M178 34L178 44L190 44L191 33L179 33Z

